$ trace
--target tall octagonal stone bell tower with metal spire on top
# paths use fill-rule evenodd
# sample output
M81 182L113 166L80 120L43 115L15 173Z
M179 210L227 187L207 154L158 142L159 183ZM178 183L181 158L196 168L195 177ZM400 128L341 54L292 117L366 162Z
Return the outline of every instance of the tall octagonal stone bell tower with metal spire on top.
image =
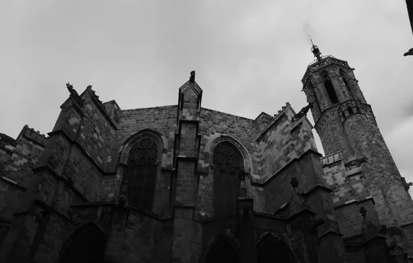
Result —
M341 152L346 169L361 168L380 224L413 231L409 185L398 172L354 69L343 60L322 56L314 44L312 52L316 60L301 82L308 102L313 103L314 127L325 154Z

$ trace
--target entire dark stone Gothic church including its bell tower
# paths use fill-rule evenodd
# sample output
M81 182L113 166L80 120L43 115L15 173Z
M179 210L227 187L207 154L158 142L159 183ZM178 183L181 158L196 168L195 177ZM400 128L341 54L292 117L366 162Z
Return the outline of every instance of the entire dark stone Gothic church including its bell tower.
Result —
M0 134L0 262L410 262L412 183L354 69L313 53L308 106L254 120L201 107L194 71L146 109L68 83L48 136Z

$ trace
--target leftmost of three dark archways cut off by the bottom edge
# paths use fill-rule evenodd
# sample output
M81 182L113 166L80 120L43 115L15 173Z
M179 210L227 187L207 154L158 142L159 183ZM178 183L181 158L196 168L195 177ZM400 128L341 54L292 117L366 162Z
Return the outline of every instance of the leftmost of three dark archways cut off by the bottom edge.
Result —
M67 240L60 263L100 263L105 257L106 237L96 224L89 223L76 230Z

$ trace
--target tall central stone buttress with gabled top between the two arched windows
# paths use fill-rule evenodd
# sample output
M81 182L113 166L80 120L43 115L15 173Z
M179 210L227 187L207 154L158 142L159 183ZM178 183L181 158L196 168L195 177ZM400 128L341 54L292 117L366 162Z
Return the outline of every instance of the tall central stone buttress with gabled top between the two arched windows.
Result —
M191 262L197 259L197 254L199 254L197 249L193 249L195 235L193 213L199 181L196 166L200 151L200 136L198 136L197 131L200 125L201 98L202 89L192 78L179 89L178 134L175 140L175 179L177 183L171 262Z

